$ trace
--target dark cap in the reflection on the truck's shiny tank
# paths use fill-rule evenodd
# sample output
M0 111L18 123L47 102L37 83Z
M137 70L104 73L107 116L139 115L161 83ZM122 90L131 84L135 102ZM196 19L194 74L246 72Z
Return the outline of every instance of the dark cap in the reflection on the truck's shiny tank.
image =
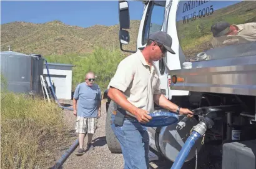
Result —
M210 28L210 30L214 37L220 37L229 32L229 27L230 24L228 22L217 22Z

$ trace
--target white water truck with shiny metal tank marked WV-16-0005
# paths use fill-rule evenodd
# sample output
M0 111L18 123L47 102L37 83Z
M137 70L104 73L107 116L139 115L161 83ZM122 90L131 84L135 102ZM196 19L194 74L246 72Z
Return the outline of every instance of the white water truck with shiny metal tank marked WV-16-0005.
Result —
M121 50L142 50L149 34L167 32L176 54L167 52L154 63L162 94L196 112L190 119L179 115L176 123L166 127L148 127L150 150L174 162L173 168L181 168L195 157L195 150L200 152L206 144L218 144L222 146L222 168L256 168L256 1L137 3L144 4L134 47L137 49L127 51L124 46L130 42L129 1L119 1ZM220 22L222 26L218 27ZM227 24L229 27L223 29ZM112 153L122 153L111 130L113 103L107 90L104 98L108 100L107 145ZM155 105L155 110L160 109ZM200 137L185 150L192 131L199 132Z

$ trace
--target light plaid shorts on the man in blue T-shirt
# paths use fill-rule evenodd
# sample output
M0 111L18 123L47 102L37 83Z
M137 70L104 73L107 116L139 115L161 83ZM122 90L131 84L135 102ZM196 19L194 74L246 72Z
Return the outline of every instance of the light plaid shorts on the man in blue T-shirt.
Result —
M76 132L77 133L95 133L97 129L97 118L85 118L77 116L76 119Z

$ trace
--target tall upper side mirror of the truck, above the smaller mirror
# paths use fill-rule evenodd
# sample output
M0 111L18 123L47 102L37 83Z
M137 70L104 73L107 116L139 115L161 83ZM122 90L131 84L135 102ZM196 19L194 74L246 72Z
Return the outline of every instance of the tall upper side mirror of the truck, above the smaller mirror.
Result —
M129 5L127 1L119 1L119 23L122 29L130 28Z

